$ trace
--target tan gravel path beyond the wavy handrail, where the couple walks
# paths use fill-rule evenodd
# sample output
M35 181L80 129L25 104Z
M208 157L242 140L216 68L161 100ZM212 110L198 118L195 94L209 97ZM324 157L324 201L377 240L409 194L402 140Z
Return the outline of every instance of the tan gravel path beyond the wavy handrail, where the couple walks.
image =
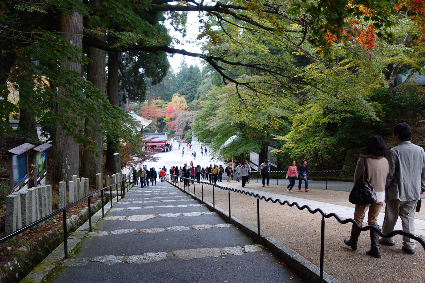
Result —
M233 185L241 188L241 183L222 182L220 185ZM196 195L201 196L201 185L195 185ZM261 184L250 182L245 188L261 190L269 193L278 193L280 199L285 200L289 193L281 185L262 187ZM311 199L334 205L343 205L354 208L348 202L346 191L332 191L310 188L308 193L291 193L303 199ZM190 191L193 192L193 185ZM241 193L230 193L232 215L257 227L256 199ZM204 185L204 199L212 203L212 187ZM215 205L229 210L228 192L215 188ZM384 206L385 207L385 206ZM382 212L384 208L382 208ZM320 224L321 215L311 214L307 210L298 210L297 207L273 204L260 201L260 228L263 232L272 235L283 244L298 252L310 262L320 263ZM425 220L424 213L417 213L416 219ZM370 247L368 232L363 232L359 238L357 251L347 247L343 240L348 238L351 225L340 224L334 218L325 219L325 272L344 283L357 282L424 282L424 250L416 245L416 254L407 255L401 250L401 236L396 237L393 247L381 246L381 258L372 258L365 254ZM422 235L422 231L417 231ZM424 233L425 234L425 233Z

